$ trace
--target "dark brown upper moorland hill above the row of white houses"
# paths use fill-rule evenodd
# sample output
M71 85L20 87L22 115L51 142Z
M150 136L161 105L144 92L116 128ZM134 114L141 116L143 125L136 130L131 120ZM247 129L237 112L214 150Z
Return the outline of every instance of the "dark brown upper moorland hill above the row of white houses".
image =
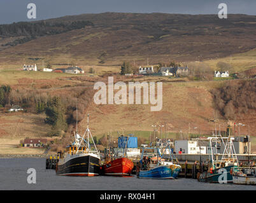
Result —
M43 60L55 65L72 61L77 65L117 65L124 60L143 65L147 58L151 64L215 59L255 48L255 20L248 15L229 15L221 20L217 15L165 13L64 16L43 22L92 24L72 30L57 27L56 32L52 26L52 34L34 36L16 46L13 42L24 37L24 32L19 32L20 36L2 35L0 65L41 64ZM8 43L13 46L6 46Z

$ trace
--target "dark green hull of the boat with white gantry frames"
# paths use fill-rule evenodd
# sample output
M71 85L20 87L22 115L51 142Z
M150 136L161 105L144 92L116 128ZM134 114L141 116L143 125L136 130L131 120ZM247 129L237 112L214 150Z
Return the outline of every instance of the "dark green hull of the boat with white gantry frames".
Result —
M221 167L220 169L213 171L213 173L205 171L200 174L198 181L206 183L232 183L233 178L230 173L232 167L234 166Z

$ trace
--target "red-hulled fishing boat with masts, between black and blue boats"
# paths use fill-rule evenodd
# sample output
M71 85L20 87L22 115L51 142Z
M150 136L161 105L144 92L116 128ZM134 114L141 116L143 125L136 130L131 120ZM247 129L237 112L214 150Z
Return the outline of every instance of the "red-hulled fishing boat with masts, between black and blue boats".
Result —
M132 173L132 169L134 164L132 160L128 159L127 157L127 145L129 142L129 137L121 137L125 138L124 148L122 157L113 156L113 152L107 147L107 154L106 154L106 164L101 166L104 175L111 175L111 176L130 176ZM122 139L123 141L124 139ZM119 141L119 139L118 139ZM113 147L111 148L113 150Z

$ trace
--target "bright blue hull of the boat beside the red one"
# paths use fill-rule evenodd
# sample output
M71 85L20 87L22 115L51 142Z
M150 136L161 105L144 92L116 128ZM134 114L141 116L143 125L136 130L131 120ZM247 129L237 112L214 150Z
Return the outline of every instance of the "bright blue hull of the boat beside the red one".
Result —
M153 179L174 179L178 177L181 166L173 164L171 166L159 166L148 171L138 171L138 178Z

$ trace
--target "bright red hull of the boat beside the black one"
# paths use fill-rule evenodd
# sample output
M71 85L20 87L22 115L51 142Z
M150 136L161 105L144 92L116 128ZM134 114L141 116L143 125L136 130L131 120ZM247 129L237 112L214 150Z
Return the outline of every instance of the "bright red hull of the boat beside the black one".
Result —
M111 160L108 164L102 166L104 175L110 176L129 176L134 167L133 162L127 158L118 158Z

